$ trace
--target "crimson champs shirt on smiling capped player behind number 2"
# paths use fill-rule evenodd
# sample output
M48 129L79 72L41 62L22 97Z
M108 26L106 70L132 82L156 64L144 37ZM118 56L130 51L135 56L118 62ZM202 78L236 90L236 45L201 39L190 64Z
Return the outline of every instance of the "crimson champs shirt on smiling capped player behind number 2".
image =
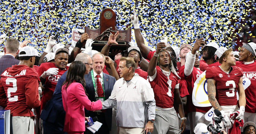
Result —
M58 68L55 66L55 63L50 63L50 62L42 63L37 69L38 76L40 77L44 73L44 71L47 71L49 68L53 68L53 67ZM59 72L57 75L50 75L45 78L45 86L44 86L45 90L42 91L41 110L44 109L46 102L51 99L59 78L65 71L68 70L68 68L69 67L67 66L66 69L63 69L63 70L59 69L58 70Z

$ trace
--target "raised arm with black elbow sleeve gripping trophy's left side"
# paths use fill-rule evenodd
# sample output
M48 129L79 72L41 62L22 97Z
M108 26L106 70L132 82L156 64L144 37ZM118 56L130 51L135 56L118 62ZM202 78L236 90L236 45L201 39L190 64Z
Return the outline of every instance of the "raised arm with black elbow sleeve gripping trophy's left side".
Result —
M72 52L68 58L68 63L71 63L75 60L77 55L80 53L82 46L85 45L85 43L88 39L89 39L89 35L87 33L83 33L81 35L80 40L78 40L78 42L76 43L76 46L74 47L74 49L72 50Z

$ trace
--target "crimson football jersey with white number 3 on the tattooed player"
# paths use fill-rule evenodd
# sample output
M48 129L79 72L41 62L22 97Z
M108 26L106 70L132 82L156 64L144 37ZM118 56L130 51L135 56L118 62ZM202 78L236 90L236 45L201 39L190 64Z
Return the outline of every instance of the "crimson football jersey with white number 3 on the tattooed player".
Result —
M221 106L237 105L238 82L243 76L242 69L232 66L229 74L219 66L210 67L205 72L206 79L214 79L216 86L216 99Z

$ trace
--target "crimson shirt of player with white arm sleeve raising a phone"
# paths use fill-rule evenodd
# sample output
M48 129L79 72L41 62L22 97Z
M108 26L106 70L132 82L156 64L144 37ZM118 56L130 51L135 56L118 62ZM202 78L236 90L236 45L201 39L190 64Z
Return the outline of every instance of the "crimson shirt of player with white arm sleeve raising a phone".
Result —
M181 66L179 69L179 74L185 77L184 74L185 65ZM194 89L194 83L196 82L197 78L201 75L202 71L193 67L193 70L189 76L186 76L185 79L187 81L188 93L189 96L187 98L187 111L188 112L208 112L211 107L199 107L193 104L192 100L192 93Z

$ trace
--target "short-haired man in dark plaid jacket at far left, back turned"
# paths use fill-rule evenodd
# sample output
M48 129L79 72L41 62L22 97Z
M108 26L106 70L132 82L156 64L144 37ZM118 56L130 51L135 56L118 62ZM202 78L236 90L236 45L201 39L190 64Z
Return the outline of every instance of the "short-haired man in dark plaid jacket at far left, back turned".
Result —
M19 41L14 38L10 38L6 40L4 45L4 56L2 56L0 59L1 74L7 67L12 67L12 65L19 64L19 60L15 59L15 56L18 53L19 53Z

